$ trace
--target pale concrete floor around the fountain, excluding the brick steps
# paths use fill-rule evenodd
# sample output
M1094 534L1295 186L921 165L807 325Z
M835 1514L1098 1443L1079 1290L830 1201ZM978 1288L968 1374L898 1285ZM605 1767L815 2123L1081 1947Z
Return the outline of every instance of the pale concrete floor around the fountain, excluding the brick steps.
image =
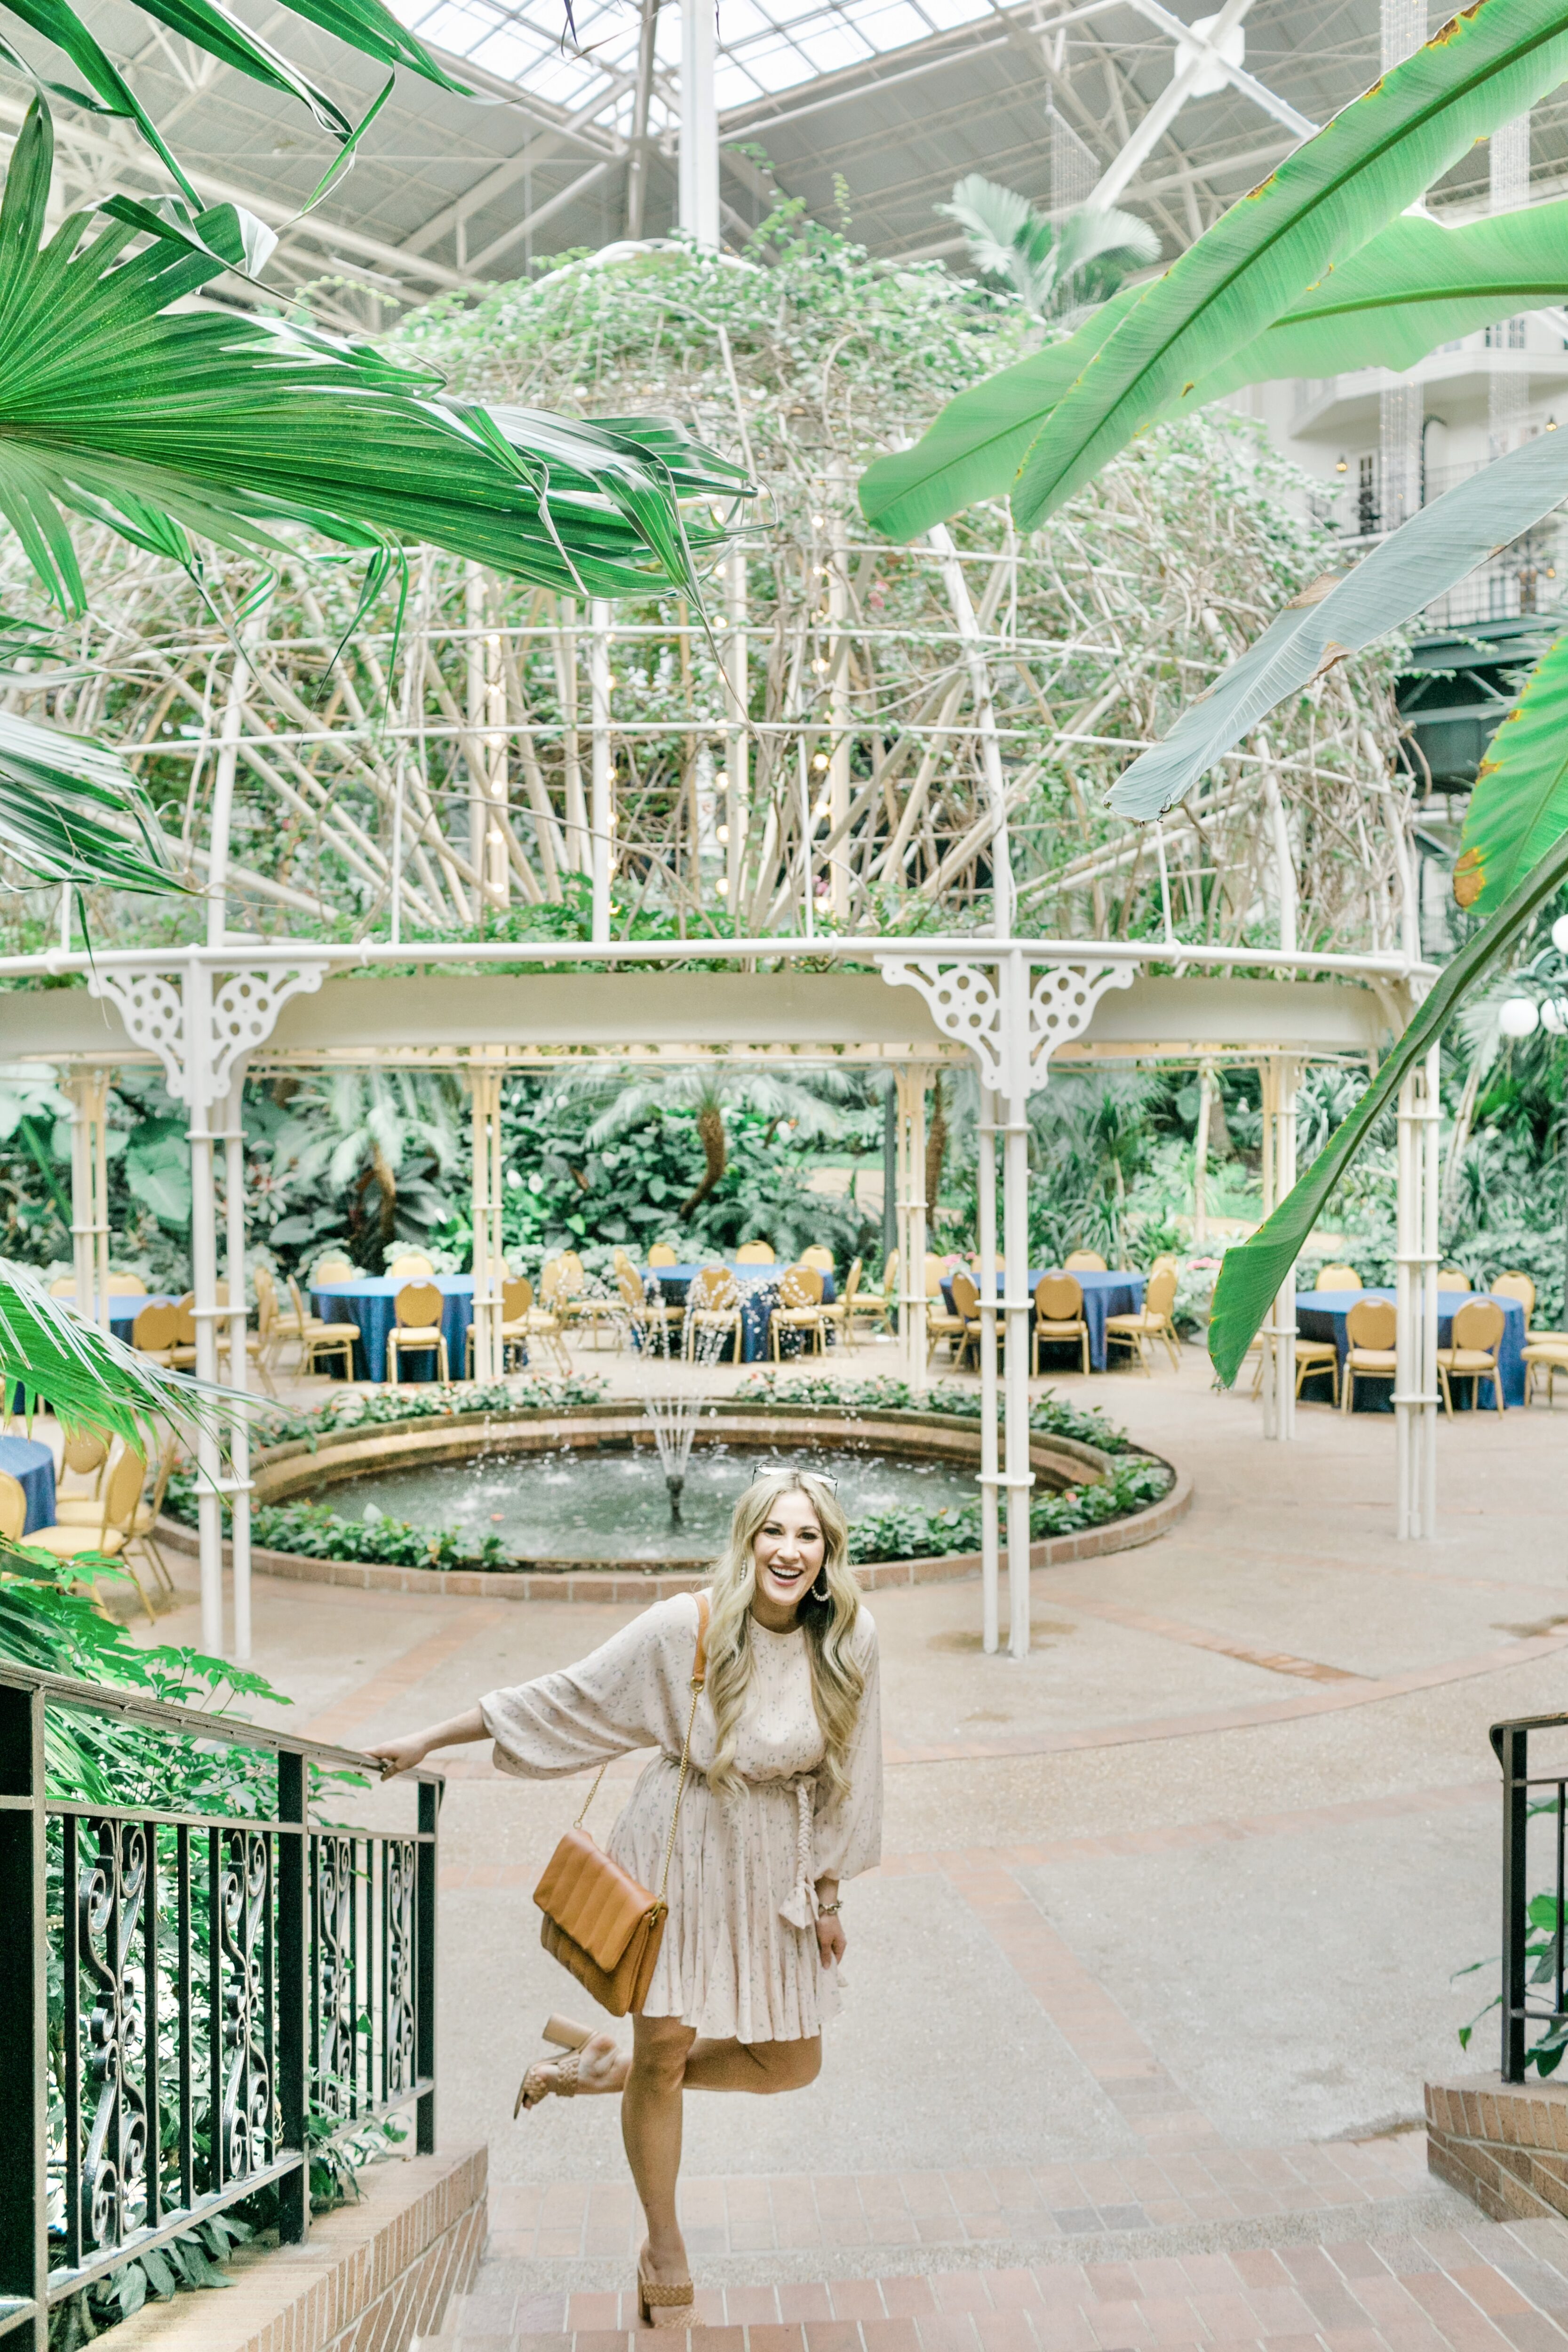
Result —
M1497 1947L1488 1724L1566 1698L1568 1416L1443 1425L1441 1534L1401 1545L1392 1418L1305 1406L1267 1446L1197 1350L1053 1385L1187 1468L1192 1515L1037 1573L1023 1663L980 1653L976 1583L877 1595L886 1860L846 1889L846 2013L811 2091L686 2103L691 2178L1126 2166L1157 2145L1150 2100L1187 2131L1166 2145L1241 2161L1396 2131L1427 2074L1493 2063L1490 2020L1469 2060L1455 2039L1490 1973L1453 1976ZM628 1613L261 1578L256 1665L292 1722L355 1745ZM150 1637L195 1639L195 1609ZM465 1750L442 1816L442 2140L487 2138L520 2192L623 2180L614 2100L510 2119L541 2018L581 2009L529 1900L578 1802Z

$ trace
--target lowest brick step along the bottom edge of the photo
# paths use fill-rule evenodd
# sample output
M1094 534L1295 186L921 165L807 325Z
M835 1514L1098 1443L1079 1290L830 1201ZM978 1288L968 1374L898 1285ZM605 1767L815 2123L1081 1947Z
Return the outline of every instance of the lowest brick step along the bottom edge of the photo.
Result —
M635 2293L522 2293L482 2265L442 2352L646 2352ZM1559 2220L1314 2244L703 2286L670 2352L1563 2352Z

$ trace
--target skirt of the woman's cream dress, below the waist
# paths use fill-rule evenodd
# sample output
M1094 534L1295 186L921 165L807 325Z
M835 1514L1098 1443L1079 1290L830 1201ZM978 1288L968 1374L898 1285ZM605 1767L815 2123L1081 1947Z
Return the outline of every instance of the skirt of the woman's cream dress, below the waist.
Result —
M679 1764L656 1757L609 1835L609 1853L658 1891ZM743 1780L717 1792L686 1773L670 1882L670 1915L644 2002L736 2042L806 2042L837 2011L837 1969L823 1969L816 1929L795 1926L802 1856L797 1783ZM799 1912L797 1912L799 1915Z

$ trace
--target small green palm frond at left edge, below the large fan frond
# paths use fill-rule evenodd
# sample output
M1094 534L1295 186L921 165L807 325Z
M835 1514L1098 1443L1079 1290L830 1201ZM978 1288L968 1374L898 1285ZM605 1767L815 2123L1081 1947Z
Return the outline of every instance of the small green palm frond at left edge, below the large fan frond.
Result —
M0 710L0 849L40 882L181 891L132 771L87 736Z

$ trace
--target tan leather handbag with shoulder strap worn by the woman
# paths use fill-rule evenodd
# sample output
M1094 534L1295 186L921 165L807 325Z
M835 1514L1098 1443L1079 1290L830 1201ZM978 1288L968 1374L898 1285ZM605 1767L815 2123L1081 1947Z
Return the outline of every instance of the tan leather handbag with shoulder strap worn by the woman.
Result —
M628 2011L637 2016L649 1997L658 1945L665 1933L665 1886L670 1884L670 1856L675 1853L675 1828L679 1823L682 1797L686 1795L686 1769L691 1759L691 1726L696 1703L708 1677L708 1595L696 1597L696 1658L691 1663L691 1712L686 1717L686 1740L682 1748L679 1780L675 1788L675 1811L670 1813L670 1837L665 1842L665 1867L658 1893L639 1886L630 1870L611 1863L609 1853L592 1842L583 1820L599 1792L599 1780L609 1764L599 1766L599 1778L583 1799L583 1811L571 1823L559 1846L545 1863L545 1875L534 1889L543 1919L538 1940L562 1969L569 1969L585 1992L592 1992L599 2009L611 2018Z

